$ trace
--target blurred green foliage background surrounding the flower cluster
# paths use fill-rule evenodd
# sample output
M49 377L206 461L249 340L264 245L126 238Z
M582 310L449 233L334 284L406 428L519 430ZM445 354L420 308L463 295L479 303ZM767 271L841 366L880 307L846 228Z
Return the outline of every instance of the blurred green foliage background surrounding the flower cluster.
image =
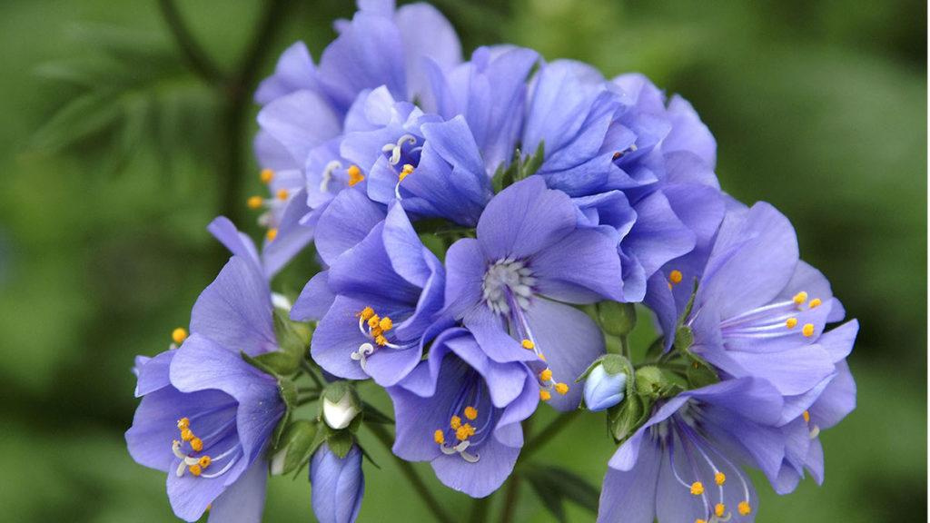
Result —
M826 483L778 497L757 482L758 520L925 520L926 5L436 5L467 52L512 42L607 75L640 71L683 94L717 137L724 188L782 209L804 258L859 318L850 358L859 407L822 436ZM192 0L181 15L230 71L254 47L263 6ZM330 22L353 7L283 9L246 87L296 39L318 57ZM240 205L259 191L248 145L255 107L240 103L237 114L227 101L239 94L190 72L154 0L5 0L0 60L2 518L170 521L164 474L124 447L136 406L129 369L133 355L166 348L219 271L225 254L206 223L234 214L259 234ZM299 288L310 266L299 259L279 283ZM363 393L385 405L374 387ZM361 520L429 520L388 454L363 437L382 468L365 465ZM603 420L585 416L537 459L599 484L612 450ZM468 499L419 470L450 510L468 514ZM272 480L266 519L312 520L308 490L302 479ZM516 511L551 520L525 487ZM574 506L568 515L593 517Z

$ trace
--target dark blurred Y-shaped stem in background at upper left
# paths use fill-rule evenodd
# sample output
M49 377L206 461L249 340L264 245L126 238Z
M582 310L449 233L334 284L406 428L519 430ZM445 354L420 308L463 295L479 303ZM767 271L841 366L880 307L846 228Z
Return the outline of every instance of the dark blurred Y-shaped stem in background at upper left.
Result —
M219 142L215 154L219 182L219 213L241 223L244 208L243 181L246 176L246 115L251 93L259 84L259 68L271 50L274 30L284 20L288 0L266 0L252 39L232 74L223 74L180 18L173 0L158 0L168 29L194 74L217 90L220 103ZM225 261L227 253L221 250Z

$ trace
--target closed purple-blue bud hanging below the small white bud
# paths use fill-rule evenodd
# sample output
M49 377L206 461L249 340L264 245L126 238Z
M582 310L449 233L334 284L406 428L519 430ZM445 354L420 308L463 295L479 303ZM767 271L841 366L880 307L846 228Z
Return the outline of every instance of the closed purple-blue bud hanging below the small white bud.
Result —
M352 523L365 496L362 451L352 445L339 458L324 443L310 462L313 515L320 523Z

